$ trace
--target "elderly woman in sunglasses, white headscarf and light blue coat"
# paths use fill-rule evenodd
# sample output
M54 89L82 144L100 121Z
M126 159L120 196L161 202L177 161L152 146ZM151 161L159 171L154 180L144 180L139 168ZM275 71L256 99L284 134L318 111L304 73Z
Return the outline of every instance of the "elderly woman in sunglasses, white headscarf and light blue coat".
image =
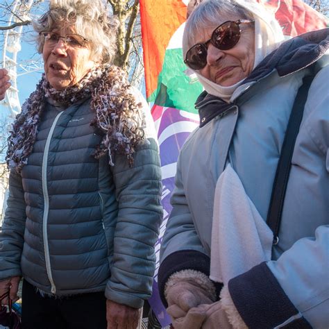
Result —
M255 1L205 0L187 19L185 63L205 91L200 127L180 152L160 255L175 329L328 327L328 35L283 42ZM273 180L310 75L272 248Z

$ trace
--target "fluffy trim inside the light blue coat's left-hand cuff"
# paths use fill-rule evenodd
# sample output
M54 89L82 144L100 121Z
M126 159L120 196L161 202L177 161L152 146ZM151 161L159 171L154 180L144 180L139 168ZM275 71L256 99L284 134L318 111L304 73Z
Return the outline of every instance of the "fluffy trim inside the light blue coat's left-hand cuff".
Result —
M176 285L176 283L181 282L182 280L193 280L196 282L201 288L205 289L205 291L210 292L213 297L213 300L216 301L216 288L214 284L210 280L205 273L200 271L196 271L194 269L183 269L182 271L177 271L167 280L165 284L165 298L167 299L167 290Z

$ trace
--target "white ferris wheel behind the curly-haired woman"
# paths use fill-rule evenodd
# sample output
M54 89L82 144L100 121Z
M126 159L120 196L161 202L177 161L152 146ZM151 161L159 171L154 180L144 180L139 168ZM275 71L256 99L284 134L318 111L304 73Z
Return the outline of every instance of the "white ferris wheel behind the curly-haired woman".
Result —
M8 26L30 19L30 12L33 0L19 1L15 0L11 6L10 18ZM15 28L6 31L3 42L2 67L7 69L10 76L11 87L7 90L5 99L1 105L8 108L10 117L13 119L21 111L21 103L19 101L19 90L17 89L17 76L29 74L33 71L42 69L42 62L35 60L26 60L25 62L17 62L17 53L21 51L21 36L23 26L18 25Z

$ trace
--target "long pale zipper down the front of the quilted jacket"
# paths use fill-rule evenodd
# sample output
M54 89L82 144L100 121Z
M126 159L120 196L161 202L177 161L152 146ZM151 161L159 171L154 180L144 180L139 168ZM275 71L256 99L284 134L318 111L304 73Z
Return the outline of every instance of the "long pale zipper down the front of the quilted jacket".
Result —
M51 284L51 294L56 293L56 286L53 282L53 275L51 274L51 264L50 264L50 255L49 255L49 245L48 245L48 231L47 231L47 223L48 223L48 213L49 213L49 195L47 188L47 166L48 166L48 153L49 146L51 142L51 137L53 137L53 130L57 124L57 121L62 115L64 111L58 113L55 120L53 120L53 124L49 130L49 135L47 137L46 146L44 146L44 156L42 158L42 192L44 195L44 216L42 219L42 233L44 235L44 259L46 260L46 269L49 282Z

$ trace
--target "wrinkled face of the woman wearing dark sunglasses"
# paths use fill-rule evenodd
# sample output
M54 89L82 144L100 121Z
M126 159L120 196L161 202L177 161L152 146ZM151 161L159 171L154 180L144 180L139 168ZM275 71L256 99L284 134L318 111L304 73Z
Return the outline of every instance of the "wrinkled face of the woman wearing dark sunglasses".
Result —
M226 21L236 21L240 17L221 19L218 25ZM216 28L216 27L215 27ZM253 24L240 24L239 42L228 50L220 50L208 44L207 65L199 70L199 74L223 87L235 85L246 78L253 70L255 60L255 32ZM212 35L214 28L206 29L203 35L197 35L196 42L204 43Z

